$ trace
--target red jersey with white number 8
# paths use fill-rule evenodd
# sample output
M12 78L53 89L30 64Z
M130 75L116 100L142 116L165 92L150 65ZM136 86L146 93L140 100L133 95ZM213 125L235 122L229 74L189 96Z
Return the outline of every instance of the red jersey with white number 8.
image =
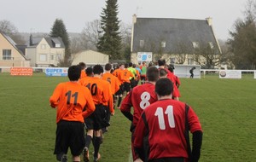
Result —
M125 96L120 110L122 112L131 112L131 107L133 107L132 124L136 126L143 110L154 101L157 101L157 96L154 93L154 84L138 85L131 90L129 95Z

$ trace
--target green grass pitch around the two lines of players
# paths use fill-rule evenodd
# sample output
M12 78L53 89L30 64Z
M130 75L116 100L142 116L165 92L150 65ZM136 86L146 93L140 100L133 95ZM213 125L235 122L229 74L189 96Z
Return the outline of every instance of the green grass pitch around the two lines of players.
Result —
M0 73L1 161L56 161L55 110L49 107L49 95L63 81L67 78L45 77L42 73L32 77ZM181 82L180 100L194 108L204 130L200 161L255 161L256 80L252 76L206 76L181 78ZM129 161L129 127L128 119L116 110L100 148L101 161Z

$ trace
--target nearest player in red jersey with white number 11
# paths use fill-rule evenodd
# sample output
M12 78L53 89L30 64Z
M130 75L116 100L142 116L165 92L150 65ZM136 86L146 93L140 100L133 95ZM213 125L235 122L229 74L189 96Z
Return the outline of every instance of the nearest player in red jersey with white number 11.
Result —
M155 84L158 101L144 110L137 123L134 147L143 161L197 162L200 159L200 121L191 107L172 100L172 90L172 81L160 78ZM193 134L192 153L189 130Z

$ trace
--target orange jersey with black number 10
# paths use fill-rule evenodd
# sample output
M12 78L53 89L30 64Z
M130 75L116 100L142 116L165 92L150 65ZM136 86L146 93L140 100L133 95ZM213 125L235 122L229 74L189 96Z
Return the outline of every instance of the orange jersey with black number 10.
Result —
M90 78L81 80L80 82L83 86L86 86L90 90L90 94L92 95L93 101L96 105L103 104L106 105L106 102L109 102L112 98L111 86L106 80L102 80L101 78ZM113 105L109 103L109 105ZM110 112L113 113L113 107L109 107Z

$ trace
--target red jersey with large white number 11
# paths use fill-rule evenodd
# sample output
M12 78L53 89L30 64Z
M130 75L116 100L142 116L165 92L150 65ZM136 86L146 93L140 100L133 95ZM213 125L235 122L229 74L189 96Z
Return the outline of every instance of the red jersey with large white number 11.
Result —
M201 124L192 108L188 111L191 133L201 130ZM148 132L148 134L147 134ZM143 148L143 138L149 144L148 159L188 158L185 132L185 103L166 99L148 106L135 130L134 147Z

